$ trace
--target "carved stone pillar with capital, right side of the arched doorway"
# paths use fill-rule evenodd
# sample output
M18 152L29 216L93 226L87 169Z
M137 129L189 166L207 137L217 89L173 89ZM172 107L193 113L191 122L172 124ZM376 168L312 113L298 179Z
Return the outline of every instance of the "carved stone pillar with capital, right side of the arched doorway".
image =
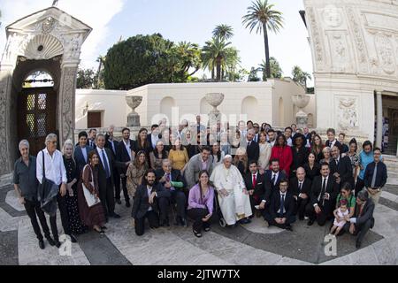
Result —
M61 65L61 83L58 95L58 141L62 148L66 140L74 144L74 108L76 75L79 62L63 62Z

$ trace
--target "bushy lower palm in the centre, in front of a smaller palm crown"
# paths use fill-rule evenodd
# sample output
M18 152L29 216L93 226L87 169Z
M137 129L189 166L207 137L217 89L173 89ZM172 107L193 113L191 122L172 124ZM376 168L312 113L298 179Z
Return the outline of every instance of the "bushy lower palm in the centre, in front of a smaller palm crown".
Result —
M214 79L214 67L216 68L216 81L222 79L222 70L226 70L226 57L228 46L231 42L226 42L218 37L213 37L209 42L203 46L202 59L203 68L211 71L211 79Z

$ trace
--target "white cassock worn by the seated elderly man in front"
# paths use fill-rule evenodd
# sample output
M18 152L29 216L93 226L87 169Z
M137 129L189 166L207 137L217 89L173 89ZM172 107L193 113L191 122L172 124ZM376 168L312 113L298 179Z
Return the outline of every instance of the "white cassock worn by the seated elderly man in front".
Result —
M252 215L249 195L243 193L246 186L236 166L226 169L224 164L219 164L211 173L210 181L218 191L218 203L227 225ZM228 192L227 196L219 193L223 188Z

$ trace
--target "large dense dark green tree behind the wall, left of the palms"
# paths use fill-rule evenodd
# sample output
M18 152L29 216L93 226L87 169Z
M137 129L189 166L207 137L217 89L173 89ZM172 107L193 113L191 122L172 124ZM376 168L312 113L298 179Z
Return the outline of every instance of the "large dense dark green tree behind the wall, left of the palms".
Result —
M116 43L108 50L103 80L108 89L186 82L200 65L201 51L197 44L175 44L161 34L139 34ZM192 69L194 71L190 72Z

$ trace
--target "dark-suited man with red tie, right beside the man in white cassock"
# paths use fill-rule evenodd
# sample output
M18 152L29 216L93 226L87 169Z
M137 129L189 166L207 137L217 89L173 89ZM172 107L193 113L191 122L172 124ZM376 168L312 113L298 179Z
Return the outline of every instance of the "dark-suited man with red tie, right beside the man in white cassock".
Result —
M249 161L249 173L243 179L249 191L251 210L256 211L255 206L259 205L258 211L263 215L264 210L269 207L271 183L264 179L264 175L260 174L256 161Z

